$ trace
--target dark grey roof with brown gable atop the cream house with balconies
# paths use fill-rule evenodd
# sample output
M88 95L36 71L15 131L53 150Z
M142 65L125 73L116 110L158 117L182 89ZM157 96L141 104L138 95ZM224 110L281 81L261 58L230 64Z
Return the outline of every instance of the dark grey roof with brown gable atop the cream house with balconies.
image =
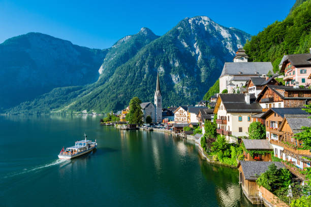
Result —
M262 108L254 94L250 94L250 104L245 102L244 93L224 93L219 94L214 113L217 113L220 101L223 102L227 113L261 113Z

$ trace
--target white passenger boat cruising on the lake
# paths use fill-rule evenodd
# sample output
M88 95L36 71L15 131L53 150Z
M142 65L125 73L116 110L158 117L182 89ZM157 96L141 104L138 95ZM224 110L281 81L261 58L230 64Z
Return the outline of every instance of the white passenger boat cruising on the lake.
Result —
M84 155L92 150L94 150L97 147L96 140L95 142L92 142L90 140L86 140L86 135L84 133L84 140L77 141L75 143L75 146L68 147L66 150L61 149L58 158L59 159L72 159L81 155Z

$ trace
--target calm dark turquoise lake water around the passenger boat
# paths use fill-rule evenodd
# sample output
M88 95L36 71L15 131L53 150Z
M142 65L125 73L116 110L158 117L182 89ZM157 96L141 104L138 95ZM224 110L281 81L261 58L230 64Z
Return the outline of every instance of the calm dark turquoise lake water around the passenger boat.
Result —
M100 118L0 116L0 206L251 206L238 171L206 163L193 142ZM98 149L59 160L84 132Z

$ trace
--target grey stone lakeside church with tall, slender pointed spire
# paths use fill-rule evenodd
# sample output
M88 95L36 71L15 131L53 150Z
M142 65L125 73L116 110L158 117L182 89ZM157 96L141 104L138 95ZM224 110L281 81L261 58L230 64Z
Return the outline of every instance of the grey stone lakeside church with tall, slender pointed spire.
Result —
M146 117L150 116L152 122L162 122L162 95L160 89L159 72L157 76L157 87L154 92L154 105L151 102L143 102L140 104L143 112L143 121L146 121Z

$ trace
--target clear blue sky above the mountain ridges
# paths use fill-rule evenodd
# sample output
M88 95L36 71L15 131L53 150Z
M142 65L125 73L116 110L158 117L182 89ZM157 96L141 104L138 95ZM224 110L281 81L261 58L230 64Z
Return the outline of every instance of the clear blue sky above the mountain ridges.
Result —
M0 0L0 43L30 31L90 48L108 48L148 27L163 35L185 17L215 22L257 34L283 20L295 0L261 1L11 1Z

